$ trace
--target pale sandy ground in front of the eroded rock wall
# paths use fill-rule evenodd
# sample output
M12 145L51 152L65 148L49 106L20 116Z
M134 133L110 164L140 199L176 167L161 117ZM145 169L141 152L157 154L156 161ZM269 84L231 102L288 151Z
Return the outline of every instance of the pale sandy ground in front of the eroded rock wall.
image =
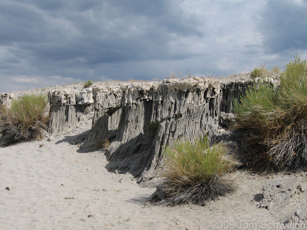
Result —
M216 229L281 229L263 222L284 223L306 201L306 193L293 194L281 209L259 209L259 194L270 179L238 172L239 189L205 206L148 204L155 188L138 185L129 174L111 172L103 150L81 153L78 145L70 144L90 127L89 117L55 140L0 148L0 230L194 230L213 229L216 223ZM305 174L275 178L283 176L300 177L306 189Z

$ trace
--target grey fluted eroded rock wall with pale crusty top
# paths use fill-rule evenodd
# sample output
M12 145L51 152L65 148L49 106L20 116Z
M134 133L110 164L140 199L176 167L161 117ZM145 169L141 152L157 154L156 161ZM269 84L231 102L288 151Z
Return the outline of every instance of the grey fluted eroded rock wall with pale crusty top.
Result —
M270 79L269 81L271 81ZM274 80L274 79L273 79ZM130 172L139 182L148 181L163 167L162 151L178 138L192 141L208 135L221 139L225 119L249 85L248 75L234 78L166 79L161 82L104 82L87 92L53 91L50 133L64 133L80 119L78 109L94 110L84 151L96 150L107 139L112 170ZM78 107L78 109L77 109Z

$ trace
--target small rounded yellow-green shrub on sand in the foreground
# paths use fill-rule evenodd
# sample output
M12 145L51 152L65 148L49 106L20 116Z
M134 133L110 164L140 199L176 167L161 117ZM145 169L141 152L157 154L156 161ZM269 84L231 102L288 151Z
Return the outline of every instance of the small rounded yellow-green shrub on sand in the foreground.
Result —
M201 204L225 195L236 189L230 172L235 169L227 157L223 144L210 147L207 137L196 140L176 141L173 147L164 151L166 182L162 190L169 203Z

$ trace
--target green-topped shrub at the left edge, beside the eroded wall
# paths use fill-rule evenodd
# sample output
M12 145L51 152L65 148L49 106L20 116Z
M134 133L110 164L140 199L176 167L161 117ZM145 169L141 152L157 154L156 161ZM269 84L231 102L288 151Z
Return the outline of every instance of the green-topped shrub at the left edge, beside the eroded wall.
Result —
M0 146L20 141L41 139L47 130L47 97L43 94L26 94L13 101L10 108L0 107Z

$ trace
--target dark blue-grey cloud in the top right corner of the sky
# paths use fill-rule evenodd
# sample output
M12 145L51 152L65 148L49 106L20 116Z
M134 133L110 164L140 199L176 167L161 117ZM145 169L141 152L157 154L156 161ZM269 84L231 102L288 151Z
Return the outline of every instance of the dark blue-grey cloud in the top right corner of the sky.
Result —
M307 49L307 1L270 0L263 9L259 28L268 52Z

